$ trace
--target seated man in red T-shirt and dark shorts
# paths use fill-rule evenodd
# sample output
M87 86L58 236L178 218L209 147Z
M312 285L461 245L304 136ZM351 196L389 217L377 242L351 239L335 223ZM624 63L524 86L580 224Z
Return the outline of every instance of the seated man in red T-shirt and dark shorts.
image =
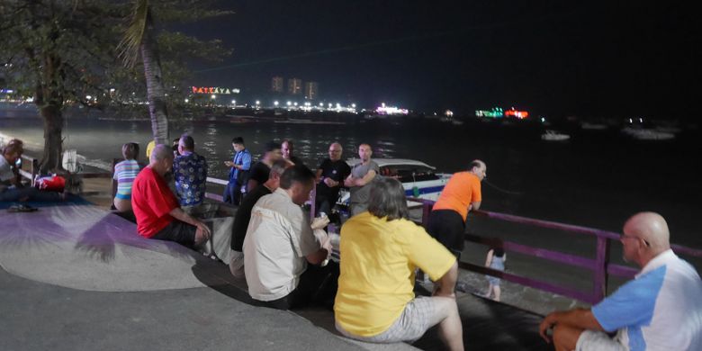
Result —
M173 167L173 150L159 144L139 172L131 189L131 207L137 230L144 238L175 241L186 247L210 238L210 228L185 213L168 188L164 175Z

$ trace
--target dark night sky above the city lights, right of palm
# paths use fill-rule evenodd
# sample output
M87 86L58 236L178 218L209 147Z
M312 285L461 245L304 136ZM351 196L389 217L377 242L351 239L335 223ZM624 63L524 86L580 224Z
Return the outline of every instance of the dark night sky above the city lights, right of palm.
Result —
M234 49L223 63L196 65L194 85L261 98L272 76L284 76L363 107L697 115L698 13L655 3L227 1L236 14L182 30Z

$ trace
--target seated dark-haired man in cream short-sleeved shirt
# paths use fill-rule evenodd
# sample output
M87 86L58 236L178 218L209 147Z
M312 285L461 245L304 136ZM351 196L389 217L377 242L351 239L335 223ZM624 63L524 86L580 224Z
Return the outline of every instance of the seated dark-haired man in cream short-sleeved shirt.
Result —
M329 220L310 222L302 205L310 198L314 174L306 166L286 169L280 187L258 200L251 211L244 239L244 268L248 293L266 307L288 310L318 298L330 282L334 289L338 265L320 265L329 258L331 244L322 229ZM332 293L327 296L324 293Z

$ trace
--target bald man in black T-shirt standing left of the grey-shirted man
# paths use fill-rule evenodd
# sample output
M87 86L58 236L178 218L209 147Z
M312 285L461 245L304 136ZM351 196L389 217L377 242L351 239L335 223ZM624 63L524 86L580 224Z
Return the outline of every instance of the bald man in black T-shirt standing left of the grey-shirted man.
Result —
M317 197L315 214L328 213L337 203L338 191L344 185L344 179L351 174L347 161L341 159L343 148L335 142L329 145L329 158L324 159L317 168Z

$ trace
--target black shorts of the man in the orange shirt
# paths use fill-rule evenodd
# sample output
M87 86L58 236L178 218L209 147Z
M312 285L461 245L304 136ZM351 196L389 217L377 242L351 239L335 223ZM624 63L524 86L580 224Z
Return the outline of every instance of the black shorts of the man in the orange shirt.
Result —
M456 257L461 255L465 243L465 222L461 215L453 210L437 210L429 213L427 231L444 244Z

